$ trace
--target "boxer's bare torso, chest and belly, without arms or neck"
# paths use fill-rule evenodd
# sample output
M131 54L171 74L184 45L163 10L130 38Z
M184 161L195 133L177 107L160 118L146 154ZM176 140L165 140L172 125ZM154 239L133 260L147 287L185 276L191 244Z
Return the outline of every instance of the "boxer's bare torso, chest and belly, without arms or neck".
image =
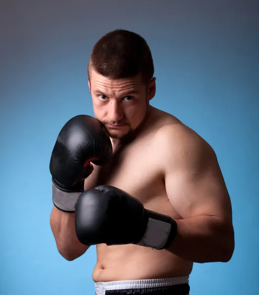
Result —
M148 128L126 146L115 149L111 163L95 166L86 178L85 188L99 184L118 187L138 198L146 209L180 218L169 203L157 154L155 140L159 129L168 123L179 124L173 116L153 110L155 118ZM193 264L167 250L155 250L139 245L96 246L97 263L93 270L95 282L138 280L189 275Z

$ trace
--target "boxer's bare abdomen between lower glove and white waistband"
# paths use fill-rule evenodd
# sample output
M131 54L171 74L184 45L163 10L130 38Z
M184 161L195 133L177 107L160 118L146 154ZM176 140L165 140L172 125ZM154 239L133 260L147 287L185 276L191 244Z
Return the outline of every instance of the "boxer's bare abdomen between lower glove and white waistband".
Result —
M141 280L189 275L193 264L167 250L138 245L97 245L94 282Z

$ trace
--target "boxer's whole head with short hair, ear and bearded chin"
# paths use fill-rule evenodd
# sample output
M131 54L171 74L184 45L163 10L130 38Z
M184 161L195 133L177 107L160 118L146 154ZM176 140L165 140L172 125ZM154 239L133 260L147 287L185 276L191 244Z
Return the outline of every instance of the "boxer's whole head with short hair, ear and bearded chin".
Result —
M88 63L93 111L112 138L134 133L155 95L153 59L140 35L116 29L94 45Z

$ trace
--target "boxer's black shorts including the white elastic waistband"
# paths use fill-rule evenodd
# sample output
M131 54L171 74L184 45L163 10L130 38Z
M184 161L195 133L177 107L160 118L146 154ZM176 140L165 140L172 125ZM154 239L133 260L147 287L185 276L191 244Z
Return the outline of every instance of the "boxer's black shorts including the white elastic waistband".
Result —
M189 295L189 277L95 283L96 295Z

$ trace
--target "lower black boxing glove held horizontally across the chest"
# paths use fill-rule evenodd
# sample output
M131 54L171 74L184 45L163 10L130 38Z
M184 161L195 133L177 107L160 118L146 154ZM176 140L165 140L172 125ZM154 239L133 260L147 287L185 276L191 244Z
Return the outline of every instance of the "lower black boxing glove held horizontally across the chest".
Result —
M75 207L76 235L85 245L137 244L161 250L177 233L170 216L145 209L138 199L113 186L84 191Z

